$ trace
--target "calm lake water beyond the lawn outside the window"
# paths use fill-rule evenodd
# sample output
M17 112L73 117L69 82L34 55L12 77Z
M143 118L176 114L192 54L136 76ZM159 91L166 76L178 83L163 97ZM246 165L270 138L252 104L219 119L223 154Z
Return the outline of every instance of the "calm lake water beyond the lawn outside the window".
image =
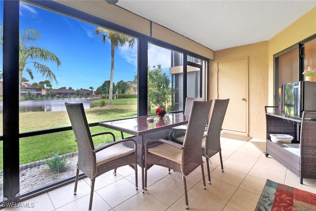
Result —
M98 107L90 105L89 100L22 100L20 101L20 112L66 111L65 102L83 103L84 109ZM0 114L2 113L3 102L0 101Z

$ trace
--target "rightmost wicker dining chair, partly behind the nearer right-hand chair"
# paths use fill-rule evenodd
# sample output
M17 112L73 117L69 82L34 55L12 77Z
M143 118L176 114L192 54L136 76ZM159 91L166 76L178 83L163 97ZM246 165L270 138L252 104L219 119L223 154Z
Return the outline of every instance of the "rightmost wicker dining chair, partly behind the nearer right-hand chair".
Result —
M229 99L214 100L211 117L209 119L207 130L204 132L205 137L202 140L202 155L206 158L208 184L211 184L208 161L210 157L216 153L219 153L222 172L224 171L220 136L228 103Z

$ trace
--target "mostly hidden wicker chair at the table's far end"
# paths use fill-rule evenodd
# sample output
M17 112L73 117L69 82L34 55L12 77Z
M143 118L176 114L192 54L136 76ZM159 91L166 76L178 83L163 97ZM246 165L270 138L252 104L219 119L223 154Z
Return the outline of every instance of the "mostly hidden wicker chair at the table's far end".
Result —
M194 101L205 101L205 97L186 97L186 103L184 107L184 115L190 115L192 105ZM206 119L207 121L207 119ZM187 125L172 127L174 129L169 133L169 140L176 140L179 142L183 142L184 133L187 129ZM182 134L181 134L182 133ZM178 134L178 136L177 136ZM181 134L181 135L179 135Z

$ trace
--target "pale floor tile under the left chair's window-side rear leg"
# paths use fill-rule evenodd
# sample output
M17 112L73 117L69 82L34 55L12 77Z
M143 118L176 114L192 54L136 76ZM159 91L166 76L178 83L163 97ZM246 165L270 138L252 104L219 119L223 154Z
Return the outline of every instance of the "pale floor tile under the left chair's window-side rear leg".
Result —
M83 179L78 181L76 195L74 195L74 187L75 183L71 183L48 192L56 209L90 194L90 186Z

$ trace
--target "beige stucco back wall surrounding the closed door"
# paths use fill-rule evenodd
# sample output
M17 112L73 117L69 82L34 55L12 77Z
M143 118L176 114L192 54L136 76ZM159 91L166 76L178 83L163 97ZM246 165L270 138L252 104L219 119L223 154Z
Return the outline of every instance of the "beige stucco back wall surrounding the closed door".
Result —
M265 109L268 103L268 41L215 51L210 62L210 99L217 98L217 62L248 57L249 136L265 138ZM230 87L229 84L227 86Z

